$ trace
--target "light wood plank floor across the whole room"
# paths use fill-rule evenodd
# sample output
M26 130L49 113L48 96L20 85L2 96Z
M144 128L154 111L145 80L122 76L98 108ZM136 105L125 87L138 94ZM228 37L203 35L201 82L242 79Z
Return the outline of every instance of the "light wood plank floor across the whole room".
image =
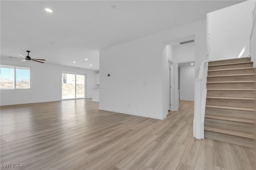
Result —
M69 100L1 107L1 166L24 170L255 170L255 150L193 138L194 102L164 120Z

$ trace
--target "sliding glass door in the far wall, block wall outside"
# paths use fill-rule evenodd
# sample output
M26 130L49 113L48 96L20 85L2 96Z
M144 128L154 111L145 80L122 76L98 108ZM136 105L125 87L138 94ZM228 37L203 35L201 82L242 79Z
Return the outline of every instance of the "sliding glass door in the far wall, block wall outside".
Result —
M62 99L86 98L86 75L62 72Z

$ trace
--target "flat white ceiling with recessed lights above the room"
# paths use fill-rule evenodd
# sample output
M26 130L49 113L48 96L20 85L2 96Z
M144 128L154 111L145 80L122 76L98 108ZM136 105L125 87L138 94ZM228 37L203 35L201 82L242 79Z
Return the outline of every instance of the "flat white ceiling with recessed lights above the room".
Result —
M1 57L30 50L30 57L46 63L99 70L100 49L202 20L240 2L1 0Z

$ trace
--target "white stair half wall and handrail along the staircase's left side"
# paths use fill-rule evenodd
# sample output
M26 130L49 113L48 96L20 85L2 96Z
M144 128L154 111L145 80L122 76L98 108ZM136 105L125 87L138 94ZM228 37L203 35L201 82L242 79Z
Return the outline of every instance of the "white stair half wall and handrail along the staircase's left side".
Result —
M206 61L200 65L198 78L195 80L195 108L193 121L193 136L196 139L204 139L204 113L206 106L206 82L210 51L210 34L208 34Z

